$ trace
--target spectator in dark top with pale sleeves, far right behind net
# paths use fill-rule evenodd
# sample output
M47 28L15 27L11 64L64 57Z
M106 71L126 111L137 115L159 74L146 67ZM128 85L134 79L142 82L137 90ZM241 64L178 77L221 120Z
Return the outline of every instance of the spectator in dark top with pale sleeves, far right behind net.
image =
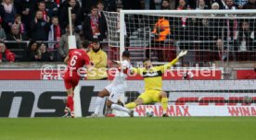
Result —
M250 29L249 21L243 21L241 28L238 29L236 33L235 40L238 41L238 51L252 51L254 50L253 40L254 31Z

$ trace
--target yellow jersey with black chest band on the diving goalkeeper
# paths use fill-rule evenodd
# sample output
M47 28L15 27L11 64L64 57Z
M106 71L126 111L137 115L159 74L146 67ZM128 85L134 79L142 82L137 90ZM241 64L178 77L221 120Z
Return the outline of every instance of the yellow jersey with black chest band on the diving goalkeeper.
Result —
M169 64L153 66L149 70L146 68L133 68L135 74L143 76L145 81L145 90L162 90L162 75L164 71L169 69L173 64L176 64L178 59L174 59Z

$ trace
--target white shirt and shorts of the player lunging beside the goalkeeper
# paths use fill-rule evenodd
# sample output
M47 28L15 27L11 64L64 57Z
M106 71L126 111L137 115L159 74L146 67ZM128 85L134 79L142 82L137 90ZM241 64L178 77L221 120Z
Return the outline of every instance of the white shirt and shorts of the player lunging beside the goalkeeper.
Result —
M116 72L112 83L106 87L109 91L109 100L113 103L117 103L120 96L126 90L126 77L128 70L132 67L130 62L122 61L119 71Z

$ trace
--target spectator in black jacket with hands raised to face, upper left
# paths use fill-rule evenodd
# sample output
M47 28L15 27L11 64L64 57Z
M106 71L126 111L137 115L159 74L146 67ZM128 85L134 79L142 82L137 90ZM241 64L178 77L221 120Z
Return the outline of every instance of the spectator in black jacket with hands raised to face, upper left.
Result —
M45 21L42 11L37 11L35 18L31 23L32 40L35 41L47 41L48 33L50 29L49 18Z

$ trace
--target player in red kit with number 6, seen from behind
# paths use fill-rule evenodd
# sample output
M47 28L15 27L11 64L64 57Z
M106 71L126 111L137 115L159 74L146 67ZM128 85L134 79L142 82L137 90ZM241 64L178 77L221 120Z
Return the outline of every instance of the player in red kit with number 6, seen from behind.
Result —
M64 60L64 63L68 64L68 70L63 76L68 94L65 116L70 115L72 118L75 116L73 91L78 85L81 76L80 72L83 71L83 65L85 65L87 71L92 69L92 66L90 65L90 58L86 53L86 48L87 46L83 46L82 49L70 50L69 55Z

